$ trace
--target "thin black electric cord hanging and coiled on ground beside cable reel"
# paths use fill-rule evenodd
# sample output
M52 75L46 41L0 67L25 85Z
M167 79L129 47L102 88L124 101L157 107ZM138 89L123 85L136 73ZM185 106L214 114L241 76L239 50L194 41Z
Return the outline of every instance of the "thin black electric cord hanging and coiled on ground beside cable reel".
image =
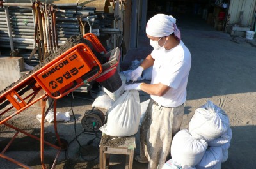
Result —
M73 92L72 92L72 99L74 99L74 95L73 95ZM78 154L79 154L79 157L83 160L83 161L93 161L95 159L97 159L99 157L99 153L97 153L97 156L95 156L94 158L91 158L91 159L88 159L88 158L85 158L84 157L84 153L83 151L86 151L86 155L88 155L90 152L88 152L88 149L84 148L83 145L81 145L81 143L79 142L78 138L79 136L81 136L82 134L84 135L95 135L94 138L92 138L91 140L89 140L86 145L84 146L90 146L94 140L96 140L96 138L98 139L101 139L101 135L102 133L97 133L95 131L95 126L93 126L93 132L90 132L90 131L85 131L85 129L83 129L83 131L81 131L81 133L79 133L77 135L77 131L76 131L76 117L74 115L74 110L73 110L73 100L71 99L71 112L72 112L72 116L74 117L74 133L75 133L75 137L68 143L67 145L67 149L65 150L65 158L70 160L70 156L68 155L68 148L70 147L70 145L73 143L73 142L76 142L78 145L79 145L79 150L78 150ZM99 145L100 141L97 143L97 145ZM95 146L94 146L95 147ZM99 152L99 146L98 147L95 147L97 149L97 152Z

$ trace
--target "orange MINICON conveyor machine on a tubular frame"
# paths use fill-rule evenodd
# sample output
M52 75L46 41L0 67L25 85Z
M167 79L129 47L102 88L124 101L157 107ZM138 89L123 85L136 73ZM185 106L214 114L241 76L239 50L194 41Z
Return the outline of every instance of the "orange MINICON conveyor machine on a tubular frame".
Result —
M120 85L122 85L120 77L116 76L116 68L118 67L118 62L120 59L119 48L115 48L110 52L107 52L94 34L88 33L85 34L83 37L92 43L93 48L97 52L104 54L103 57L107 57L108 62L101 63L87 45L85 45L84 43L79 43L78 45L70 48L65 53L59 55L52 61L42 66L42 68L29 74L28 77L24 78L22 81L13 84L11 87L9 87L9 89L6 88L6 91L1 92L0 110L4 109L9 104L11 104L11 106L10 108L6 108L5 110L3 110L3 112L0 112L0 125L3 124L9 128L15 129L17 133L15 133L8 145L6 145L4 150L0 153L0 158L7 159L8 161L11 161L24 168L30 168L29 166L26 166L4 154L8 147L10 147L10 144L13 142L15 137L19 133L23 133L30 136L31 138L35 138L36 140L40 141L42 168L45 168L44 143L58 150L55 161L52 165L52 168L54 168L60 151L65 146L63 145L64 143L61 142L60 137L58 136L56 127L56 99L60 99L63 96L66 96L68 93L74 91L81 85L92 82L93 80L96 80L97 82L102 82L103 77L105 77L105 81L111 82L111 78L112 80L115 80L115 84L118 85L115 86L114 89L113 87L111 88L114 91L118 89ZM109 85L108 87L111 87L111 85ZM33 91L32 93L25 94L29 90L31 91L31 89ZM35 96L42 89L44 89L45 93L42 96L38 96L36 98ZM26 96L22 97L22 95ZM58 140L57 145L53 145L49 142L44 141L44 117L47 114L47 112L45 112L45 101L49 97L53 99L49 107L52 107L52 105L54 107L54 129L56 133L56 138ZM37 101L41 101L42 103L40 138L26 133L26 131L22 131L21 129L16 128L15 126L8 124L7 122L9 119L17 114L20 114L20 112L35 104ZM17 111L13 114L10 114L9 110L11 110L12 108L15 108ZM4 118L2 119L1 117L3 116Z

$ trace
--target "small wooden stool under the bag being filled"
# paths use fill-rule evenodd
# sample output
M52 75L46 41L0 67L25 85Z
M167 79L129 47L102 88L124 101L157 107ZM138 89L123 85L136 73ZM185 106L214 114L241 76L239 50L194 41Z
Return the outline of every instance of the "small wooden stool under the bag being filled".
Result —
M132 169L133 154L136 149L135 136L114 137L102 133L100 140L100 169L109 166L110 154L125 154L125 169Z

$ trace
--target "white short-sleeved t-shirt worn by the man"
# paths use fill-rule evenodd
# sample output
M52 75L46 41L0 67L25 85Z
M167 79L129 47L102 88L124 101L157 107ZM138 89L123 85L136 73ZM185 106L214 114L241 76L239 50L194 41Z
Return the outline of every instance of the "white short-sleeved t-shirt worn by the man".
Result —
M182 41L170 50L160 48L151 53L154 61L151 84L170 86L163 96L150 95L164 107L178 107L186 101L188 75L191 68L191 54Z

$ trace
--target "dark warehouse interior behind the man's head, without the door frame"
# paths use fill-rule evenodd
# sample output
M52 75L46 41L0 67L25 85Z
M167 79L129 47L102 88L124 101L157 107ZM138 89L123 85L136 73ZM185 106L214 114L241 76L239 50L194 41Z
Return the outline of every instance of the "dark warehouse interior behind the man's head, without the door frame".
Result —
M228 4L229 0L148 0L147 20L156 13L164 13L177 18L177 25L184 18L195 19L199 22L204 20L205 22L202 23L209 24L218 31L224 31Z

